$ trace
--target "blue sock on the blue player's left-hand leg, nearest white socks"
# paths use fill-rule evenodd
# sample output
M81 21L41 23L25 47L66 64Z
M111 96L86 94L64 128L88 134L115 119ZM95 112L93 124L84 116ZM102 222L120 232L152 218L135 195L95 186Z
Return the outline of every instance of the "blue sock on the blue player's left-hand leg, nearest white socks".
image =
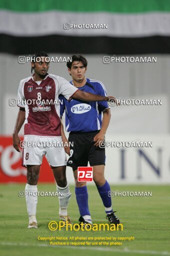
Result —
M76 201L79 208L79 213L87 222L91 222L91 216L88 210L88 192L87 187L75 187Z

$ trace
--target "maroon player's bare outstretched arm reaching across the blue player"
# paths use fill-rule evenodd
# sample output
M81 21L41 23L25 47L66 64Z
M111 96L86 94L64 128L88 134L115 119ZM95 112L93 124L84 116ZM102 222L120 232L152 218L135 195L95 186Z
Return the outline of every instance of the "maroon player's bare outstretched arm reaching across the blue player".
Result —
M84 101L108 101L109 99L113 99L115 102L116 98L114 98L113 96L100 96L100 95L96 95L93 93L89 93L89 92L84 92L81 90L77 90L73 96L73 99L80 99L80 100L84 100Z

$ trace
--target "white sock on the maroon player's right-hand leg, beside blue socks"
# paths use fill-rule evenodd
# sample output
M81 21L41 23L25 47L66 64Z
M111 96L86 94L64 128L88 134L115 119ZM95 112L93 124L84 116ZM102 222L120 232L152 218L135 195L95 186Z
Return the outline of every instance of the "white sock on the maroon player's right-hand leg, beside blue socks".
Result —
M57 189L58 200L59 200L59 215L66 216L68 202L71 197L71 193L69 192L69 186L67 184L65 188L61 188L56 184L56 189ZM61 195L59 195L59 193Z

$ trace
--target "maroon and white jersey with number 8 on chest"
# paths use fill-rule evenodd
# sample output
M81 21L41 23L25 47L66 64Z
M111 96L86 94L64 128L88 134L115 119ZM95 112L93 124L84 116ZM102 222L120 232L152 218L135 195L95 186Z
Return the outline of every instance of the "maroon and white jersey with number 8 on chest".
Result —
M68 100L77 88L56 75L48 74L37 82L33 76L22 79L18 88L18 106L25 108L24 135L61 136L58 96Z

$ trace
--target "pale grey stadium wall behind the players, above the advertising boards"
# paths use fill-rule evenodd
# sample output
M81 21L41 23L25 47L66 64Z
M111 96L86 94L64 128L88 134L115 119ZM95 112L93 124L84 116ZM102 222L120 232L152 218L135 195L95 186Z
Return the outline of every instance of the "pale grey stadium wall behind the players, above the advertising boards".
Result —
M64 54L51 54L50 56L70 56ZM147 55L148 56L148 55ZM154 97L158 99L163 95L166 95L166 108L169 110L169 94L170 94L170 59L168 55L157 55L156 63L109 63L103 64L103 55L85 55L88 60L88 68L86 76L91 79L100 80L106 90L107 95L113 95L122 99L143 98L149 99ZM66 63L51 63L49 72L57 74L70 80L66 69ZM0 134L10 136L13 131L14 121L17 114L17 107L9 107L9 98L16 98L19 81L25 77L30 76L30 63L19 64L18 56L12 56L9 54L0 54ZM165 104L163 99L162 105ZM167 106L168 105L168 106ZM136 118L140 118L140 112L144 112L144 106L121 106L118 110L114 108L112 110L111 123L109 125L109 131L121 133L169 133L170 123L168 114L163 112L157 113L157 123L153 121L153 115L151 114L154 109L157 111L157 106L150 106L149 108L149 121L148 125L137 125L139 122L135 122L135 125L131 125L130 119L135 107L138 110L136 112ZM121 110L123 109L123 110ZM126 109L126 110L125 110ZM129 111L130 109L130 111ZM143 110L141 110L143 109ZM159 109L163 109L163 106L159 106ZM141 111L140 111L141 110ZM126 115L121 115L121 111L127 111ZM156 114L156 112L154 112ZM138 117L137 117L138 115ZM132 117L133 118L133 117ZM142 116L143 118L143 116ZM124 123L126 120L127 125L120 124L120 121ZM116 125L117 129L116 129ZM135 127L137 126L137 129ZM23 133L21 133L23 134Z

